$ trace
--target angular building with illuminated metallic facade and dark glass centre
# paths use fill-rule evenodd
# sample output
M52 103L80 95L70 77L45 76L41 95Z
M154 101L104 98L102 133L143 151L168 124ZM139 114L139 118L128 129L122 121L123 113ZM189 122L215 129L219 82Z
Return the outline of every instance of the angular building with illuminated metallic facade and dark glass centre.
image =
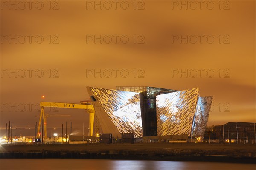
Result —
M101 133L134 137L203 136L212 96L199 96L199 88L183 91L154 87L87 87ZM96 127L95 127L96 128ZM94 130L95 132L95 130Z

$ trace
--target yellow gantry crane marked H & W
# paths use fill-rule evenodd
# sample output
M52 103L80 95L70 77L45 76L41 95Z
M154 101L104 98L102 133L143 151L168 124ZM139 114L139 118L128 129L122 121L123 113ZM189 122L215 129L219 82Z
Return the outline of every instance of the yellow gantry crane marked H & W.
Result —
M73 109L84 109L89 113L89 127L90 127L90 136L93 136L93 122L94 122L94 108L91 103L88 102L82 102L83 104L74 104L74 103L59 103L59 102L40 102L41 107L41 113L38 123L38 132L37 132L37 138L39 137L40 128L41 128L41 121L42 118L44 120L44 137L47 138L47 129L46 129L46 116L44 114L44 107L50 107L50 108L73 108Z

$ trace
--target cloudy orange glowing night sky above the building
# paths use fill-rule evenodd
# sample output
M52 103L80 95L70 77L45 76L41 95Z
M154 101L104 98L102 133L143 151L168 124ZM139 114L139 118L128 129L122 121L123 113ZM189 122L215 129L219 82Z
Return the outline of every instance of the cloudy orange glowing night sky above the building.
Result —
M210 1L212 9L211 4L204 3L200 9L199 4L195 8L190 1L183 1L188 4L186 9L177 4L180 1L166 0L136 1L136 6L134 1L118 1L116 9L114 3L107 9L109 4L97 1L102 2L100 9L95 4L90 6L94 1L63 0L51 1L51 6L48 1L40 1L44 5L41 10L41 4L35 6L35 2L31 9L28 4L25 8L17 2L15 9L9 1L1 1L1 128L9 120L16 127L34 127L38 122L35 115L40 113L35 110L37 103L79 103L89 97L86 86L153 86L175 90L199 87L201 96L214 96L208 125L256 122L255 1L221 1L221 5L219 1ZM125 4L129 5L126 10ZM89 39L94 39L94 35L102 35L102 44L100 40L95 43ZM180 42L180 36L186 35L187 43ZM41 37L44 41L39 43ZM214 41L210 42L212 37ZM17 77L9 75L15 69ZM105 74L88 75L91 69L102 69ZM107 69L112 70L109 78ZM119 69L116 77L113 69ZM122 69L128 71L128 77L120 74ZM186 69L187 75L179 74ZM41 71L43 76L39 78ZM179 73L174 74L175 71ZM27 103L32 103L31 110ZM17 107L12 108L15 104ZM49 127L61 127L66 120L77 127L87 123L83 111L58 111L71 117L49 118Z

